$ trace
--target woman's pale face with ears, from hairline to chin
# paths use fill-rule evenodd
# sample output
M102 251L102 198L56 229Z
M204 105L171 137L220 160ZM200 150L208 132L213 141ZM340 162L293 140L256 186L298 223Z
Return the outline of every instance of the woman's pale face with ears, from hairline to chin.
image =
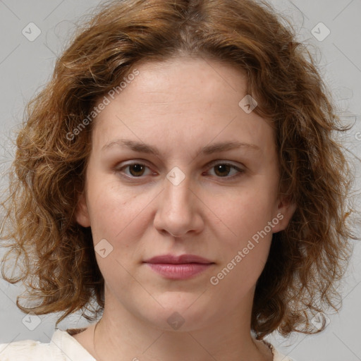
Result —
M94 120L77 210L92 229L105 310L161 329L178 312L183 330L250 311L272 234L294 212L277 194L274 130L238 105L238 69L179 58L137 71ZM185 254L208 264L145 263Z

